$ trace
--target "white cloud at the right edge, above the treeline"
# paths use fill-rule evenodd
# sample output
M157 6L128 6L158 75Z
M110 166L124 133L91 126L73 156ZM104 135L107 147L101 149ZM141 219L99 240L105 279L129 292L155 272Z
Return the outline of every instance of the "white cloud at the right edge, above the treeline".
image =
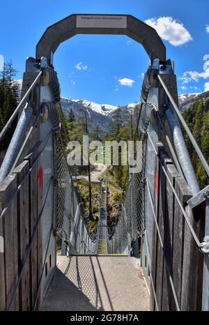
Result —
M199 82L201 78L208 79L209 78L209 54L203 56L203 61L206 61L203 64L203 71L198 73L197 71L185 71L182 77L178 78L182 80L183 84L188 84L189 82Z

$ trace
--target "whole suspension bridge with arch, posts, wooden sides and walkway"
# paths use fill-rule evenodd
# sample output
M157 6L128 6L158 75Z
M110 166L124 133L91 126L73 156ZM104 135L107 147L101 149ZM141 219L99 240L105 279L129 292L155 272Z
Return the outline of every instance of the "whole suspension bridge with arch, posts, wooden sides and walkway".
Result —
M150 58L137 121L141 169L129 175L111 234L101 183L95 236L65 156L53 66L59 44L79 33L126 35ZM1 142L17 116L0 168L0 310L209 310L209 186L199 188L181 127L208 175L209 167L178 108L174 63L155 29L130 15L70 15L50 26L36 58L26 59Z

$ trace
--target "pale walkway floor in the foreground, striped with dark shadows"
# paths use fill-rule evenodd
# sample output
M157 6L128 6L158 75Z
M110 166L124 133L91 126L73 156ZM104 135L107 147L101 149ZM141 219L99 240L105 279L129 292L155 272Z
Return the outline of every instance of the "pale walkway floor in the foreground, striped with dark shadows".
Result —
M149 295L134 257L57 259L43 310L149 310Z

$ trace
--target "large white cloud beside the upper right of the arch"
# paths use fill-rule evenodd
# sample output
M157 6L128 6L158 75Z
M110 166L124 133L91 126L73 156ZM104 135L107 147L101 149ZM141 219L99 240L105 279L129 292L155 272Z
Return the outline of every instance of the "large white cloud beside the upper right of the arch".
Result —
M168 40L171 45L179 46L192 40L192 36L184 25L172 17L150 18L145 22L156 29L160 37L163 40Z

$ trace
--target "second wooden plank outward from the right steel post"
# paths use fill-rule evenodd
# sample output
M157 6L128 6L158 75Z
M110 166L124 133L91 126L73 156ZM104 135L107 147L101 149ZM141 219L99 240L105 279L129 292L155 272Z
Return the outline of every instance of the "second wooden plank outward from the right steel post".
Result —
M167 174L173 185L175 186L175 179L179 177L176 167L173 164L169 164L166 167ZM167 259L167 264L169 269L172 271L172 259L173 259L173 216L174 216L174 195L169 182L167 181L166 185L167 193L167 204L166 204L166 213L164 220L164 255ZM163 269L163 286L162 286L162 310L171 311L176 310L175 301L173 298L173 292L171 290L171 283L169 280L169 274L167 271L166 264L164 262Z

